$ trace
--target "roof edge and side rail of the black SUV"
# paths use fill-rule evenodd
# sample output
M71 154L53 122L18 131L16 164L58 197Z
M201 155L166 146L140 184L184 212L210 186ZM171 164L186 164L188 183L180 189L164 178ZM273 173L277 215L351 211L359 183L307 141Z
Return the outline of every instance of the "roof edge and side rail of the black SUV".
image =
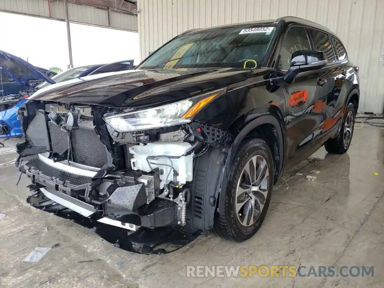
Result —
M271 19L271 20L259 20L259 21L248 21L248 22L241 22L241 23L232 23L232 24L224 24L220 26L214 26L214 27L207 27L207 28L197 28L197 29L191 29L188 31L185 31L182 34L185 33L191 33L194 31L205 31L205 30L212 30L217 28L230 28L230 27L238 27L238 26L250 26L250 25L263 25L263 24L274 24L277 25L278 23L285 22L285 23L296 23L306 26L311 26L320 30L324 30L327 33L330 33L332 35L335 35L331 30L329 30L327 27L320 25L318 23L299 18L299 17L293 17L293 16L285 16L278 19Z

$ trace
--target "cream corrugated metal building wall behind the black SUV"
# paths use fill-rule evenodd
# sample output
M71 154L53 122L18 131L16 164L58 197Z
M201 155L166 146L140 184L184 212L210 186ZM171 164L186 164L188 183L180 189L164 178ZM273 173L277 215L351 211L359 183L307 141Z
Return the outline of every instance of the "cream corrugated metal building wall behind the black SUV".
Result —
M290 15L320 23L341 38L360 66L361 112L382 113L384 0L139 0L141 58L179 33Z

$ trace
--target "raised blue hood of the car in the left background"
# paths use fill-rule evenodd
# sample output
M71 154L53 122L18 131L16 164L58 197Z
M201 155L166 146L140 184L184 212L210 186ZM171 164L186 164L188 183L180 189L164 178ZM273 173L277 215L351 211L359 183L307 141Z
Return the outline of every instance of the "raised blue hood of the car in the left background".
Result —
M29 88L29 80L41 79L51 84L55 83L46 74L42 73L38 68L31 65L27 61L18 58L10 53L0 50L0 68L3 72L8 74L10 78L17 83L22 84Z

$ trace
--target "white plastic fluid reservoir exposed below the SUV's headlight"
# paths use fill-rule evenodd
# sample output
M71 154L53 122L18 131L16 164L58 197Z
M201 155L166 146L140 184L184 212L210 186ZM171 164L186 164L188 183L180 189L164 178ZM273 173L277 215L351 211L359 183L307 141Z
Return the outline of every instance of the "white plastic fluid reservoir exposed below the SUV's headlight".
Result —
M188 142L174 141L174 142L152 142L146 145L134 145L129 147L129 153L133 154L134 157L131 159L131 167L133 170L141 170L144 172L151 172L152 169L159 168L163 170L163 173L160 174L160 189L164 188L164 185L173 181L173 170L169 166L171 165L170 160L172 160L173 168L179 173L177 180L179 184L185 184L187 181L192 181L192 170L193 170L193 156L190 154L188 156L182 156L180 158L159 158L159 159L149 159L151 167L149 167L147 162L148 156L181 156L183 155L192 145ZM166 164L166 165L162 165ZM171 171L170 171L171 170ZM168 182L167 175L170 171Z

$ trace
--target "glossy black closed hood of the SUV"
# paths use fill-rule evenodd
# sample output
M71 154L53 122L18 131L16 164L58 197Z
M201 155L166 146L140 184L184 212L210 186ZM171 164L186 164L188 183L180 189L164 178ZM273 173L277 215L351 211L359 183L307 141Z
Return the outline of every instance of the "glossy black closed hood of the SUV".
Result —
M53 84L30 97L111 108L158 106L243 81L243 68L127 70L85 76Z

